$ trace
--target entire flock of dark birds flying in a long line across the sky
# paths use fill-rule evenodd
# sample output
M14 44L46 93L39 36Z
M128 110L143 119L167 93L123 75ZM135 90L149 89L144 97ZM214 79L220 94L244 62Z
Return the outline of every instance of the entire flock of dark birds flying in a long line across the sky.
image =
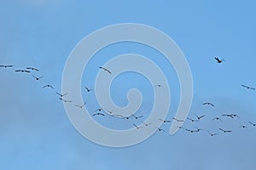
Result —
M215 57L214 59L216 60L216 62L218 64L221 64L221 63L224 62L224 59L219 59L218 57ZM13 67L14 67L14 65L0 65L0 69L1 68L11 69ZM112 72L109 71L108 68L100 66L99 69L102 70L102 71L106 71L107 74L112 74ZM26 69L15 70L15 72L17 72L17 73L20 72L20 73L23 73L23 74L30 74L36 81L39 81L42 78L44 78L44 76L41 76L41 77L34 76L33 73L35 71L39 72L39 70L35 67L26 67ZM55 89L51 84L45 84L42 88L50 88L52 90ZM154 88L162 88L162 86L160 84L157 84L157 85L154 86ZM244 84L241 85L241 88L247 88L248 90L255 90L255 88L249 87L249 86L244 85ZM94 89L85 87L84 91L86 93L90 93L90 92L94 91ZM67 93L66 94L61 94L61 93L55 92L55 94L58 96L58 99L60 99L62 102L65 102L65 103L72 103L73 102L70 99L66 99L67 98ZM84 102L84 104L82 104L82 105L75 104L74 107L77 107L79 109L83 109L85 105L86 105L86 102ZM205 103L202 103L202 105L215 107L215 105L212 104L211 102L205 102ZM148 127L148 126L154 126L154 124L152 122L149 122L149 123L143 122L143 120L142 120L143 115L140 115L140 116L136 116L135 114L131 114L131 116L116 115L116 114L114 114L114 111L106 111L102 108L96 109L96 111L93 112L91 114L91 116L113 116L115 118L124 119L124 120L131 120L131 119L132 120L140 120L140 123L135 123L134 121L131 122L132 126L136 127L137 129L140 129L140 128L143 128L143 127ZM192 123L201 122L201 120L203 120L206 117L205 115L201 115L201 116L194 115L194 116L195 116L195 118L188 117L187 118L188 122L192 122ZM212 122L223 122L222 119L224 117L230 118L230 119L236 119L236 118L241 119L241 117L238 116L237 114L230 113L230 114L223 114L223 115L220 115L220 116L212 117ZM172 117L172 120L159 119L159 121L163 122L163 123L171 123L172 121L185 122L185 120L178 120L176 117ZM256 123L247 122L247 125L242 124L240 126L240 128L248 129L248 126L256 127ZM165 129L163 129L163 128L160 128L160 127L155 127L155 128L160 132L165 132ZM199 133L201 131L205 131L211 137L218 135L218 133L212 133L210 130L206 130L206 129L202 129L202 128L198 128L198 127L195 127L194 129L189 129L189 128L186 128L186 127L177 127L177 128L183 129L183 131L188 132L188 133ZM221 133L232 133L232 130L224 129L223 127L218 127L218 131L221 132Z

